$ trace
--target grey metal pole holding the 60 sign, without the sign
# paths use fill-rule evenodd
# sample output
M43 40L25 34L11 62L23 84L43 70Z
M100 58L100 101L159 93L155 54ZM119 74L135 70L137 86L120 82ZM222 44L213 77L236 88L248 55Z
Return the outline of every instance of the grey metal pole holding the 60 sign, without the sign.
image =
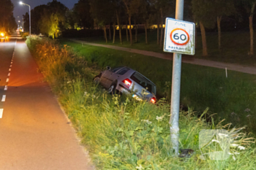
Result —
M184 0L176 0L176 20L183 20ZM173 53L173 80L170 102L170 140L178 155L178 115L181 91L181 54Z

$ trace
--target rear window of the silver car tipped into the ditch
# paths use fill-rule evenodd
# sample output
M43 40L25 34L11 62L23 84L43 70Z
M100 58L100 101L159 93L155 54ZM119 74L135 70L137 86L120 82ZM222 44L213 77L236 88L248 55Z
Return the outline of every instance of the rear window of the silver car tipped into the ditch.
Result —
M142 74L135 72L134 74L132 74L131 79L137 82L143 88L146 88L150 93L153 93L154 95L156 95L157 93L156 86L152 82L150 82L146 77L144 77Z

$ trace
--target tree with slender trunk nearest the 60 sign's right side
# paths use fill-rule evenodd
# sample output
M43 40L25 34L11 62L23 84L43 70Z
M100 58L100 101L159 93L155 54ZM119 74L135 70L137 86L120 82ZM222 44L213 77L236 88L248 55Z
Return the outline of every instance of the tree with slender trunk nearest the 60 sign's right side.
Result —
M192 13L195 20L200 25L202 43L203 43L203 56L208 55L206 43L206 28L213 28L215 25L214 15L214 1L208 0L192 0Z

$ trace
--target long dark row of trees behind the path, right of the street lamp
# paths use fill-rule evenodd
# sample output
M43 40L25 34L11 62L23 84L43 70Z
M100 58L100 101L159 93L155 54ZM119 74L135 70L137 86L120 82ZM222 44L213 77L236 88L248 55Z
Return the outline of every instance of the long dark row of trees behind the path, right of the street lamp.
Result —
M206 28L217 27L218 45L221 51L222 18L233 16L236 20L241 20L241 15L246 15L250 33L249 54L253 55L255 5L256 0L185 0L184 20L195 22L200 28L203 55L208 55ZM54 38L67 28L102 28L105 41L108 43L109 40L113 40L115 43L116 26L118 26L119 42L122 44L121 29L125 25L127 41L132 45L138 42L138 24L143 24L145 28L146 44L147 28L154 24L157 25L157 44L162 47L165 18L175 17L175 7L176 0L79 0L72 9L68 9L64 4L53 0L31 10L32 32L48 34ZM26 21L29 15L26 14L24 17ZM113 29L110 29L111 27ZM107 36L107 28L110 37ZM132 34L132 29L135 30L135 35Z

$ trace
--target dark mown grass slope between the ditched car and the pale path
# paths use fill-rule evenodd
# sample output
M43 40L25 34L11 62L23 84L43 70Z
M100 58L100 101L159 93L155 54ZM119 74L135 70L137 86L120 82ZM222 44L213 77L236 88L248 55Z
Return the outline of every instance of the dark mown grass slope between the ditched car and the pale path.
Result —
M138 70L157 85L160 96L170 98L170 82L172 74L172 61L111 50L104 47L81 45L75 42L62 41L84 56L89 63L97 66L129 66ZM248 125L256 131L251 121L256 114L256 76L239 72L228 72L206 66L183 64L181 74L181 103L203 112L210 107L211 112L217 112L219 120L222 118L235 125ZM250 112L244 112L249 108ZM236 114L231 114L231 113ZM252 117L246 117L252 115Z

